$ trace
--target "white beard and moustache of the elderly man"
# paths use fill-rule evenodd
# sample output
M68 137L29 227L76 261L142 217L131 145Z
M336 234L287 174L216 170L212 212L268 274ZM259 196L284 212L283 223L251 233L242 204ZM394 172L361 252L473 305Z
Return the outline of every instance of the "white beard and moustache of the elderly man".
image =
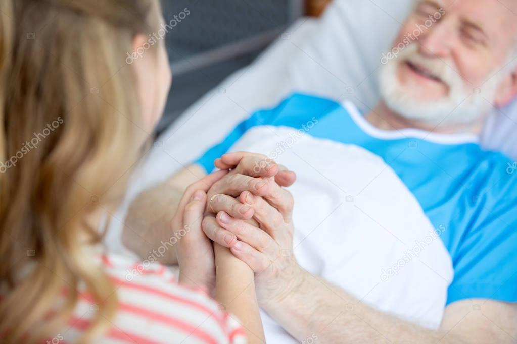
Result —
M421 65L444 81L449 87L448 95L431 101L416 100L411 86L402 85L398 77L398 68L406 61ZM397 58L389 60L381 67L379 86L386 106L402 117L432 125L468 124L493 109L492 104L501 81L500 74L489 78L482 85L480 93L476 93L474 89L466 87L458 72L450 67L450 63L439 58L422 56L418 45L412 43Z

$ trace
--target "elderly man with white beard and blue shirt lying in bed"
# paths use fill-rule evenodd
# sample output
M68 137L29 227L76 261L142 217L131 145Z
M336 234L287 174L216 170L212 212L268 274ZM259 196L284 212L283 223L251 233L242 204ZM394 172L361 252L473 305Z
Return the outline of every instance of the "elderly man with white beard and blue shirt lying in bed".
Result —
M181 239L199 271L183 280L210 288L209 239L231 248L255 271L269 342L517 341L517 176L477 138L517 95L516 12L418 2L371 113L302 94L254 113L139 197L126 244L145 257L170 237L171 204L194 183L185 192L207 191L207 212L204 233ZM214 161L231 172L196 182Z

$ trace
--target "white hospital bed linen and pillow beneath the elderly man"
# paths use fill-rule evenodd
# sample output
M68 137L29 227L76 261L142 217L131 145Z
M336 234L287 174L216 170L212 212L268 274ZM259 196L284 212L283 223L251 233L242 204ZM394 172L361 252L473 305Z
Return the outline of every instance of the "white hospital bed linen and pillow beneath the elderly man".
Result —
M107 245L127 253L120 232L135 195L188 166L254 111L275 106L293 91L371 109L378 100L381 53L389 49L410 1L334 0L321 18L297 20L251 65L227 77L157 138L115 214ZM517 160L515 133L517 102L494 111L482 144Z

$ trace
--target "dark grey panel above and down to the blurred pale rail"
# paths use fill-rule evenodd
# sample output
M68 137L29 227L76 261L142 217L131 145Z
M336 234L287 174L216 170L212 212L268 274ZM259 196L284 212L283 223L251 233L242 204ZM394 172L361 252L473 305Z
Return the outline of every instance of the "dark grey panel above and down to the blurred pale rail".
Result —
M165 22L185 17L166 43L181 75L260 50L303 14L303 0L162 0ZM179 18L181 18L179 17Z

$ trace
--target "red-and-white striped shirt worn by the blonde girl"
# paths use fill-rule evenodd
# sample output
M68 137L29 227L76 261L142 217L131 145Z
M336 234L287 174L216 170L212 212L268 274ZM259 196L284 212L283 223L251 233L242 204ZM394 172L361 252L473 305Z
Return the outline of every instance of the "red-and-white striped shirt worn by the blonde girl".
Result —
M123 256L99 259L116 286L118 313L96 343L244 344L246 333L232 316L199 289L178 285L174 274L155 263L134 263ZM87 331L97 306L82 293L73 317L51 343L72 343ZM49 342L48 341L48 342Z

